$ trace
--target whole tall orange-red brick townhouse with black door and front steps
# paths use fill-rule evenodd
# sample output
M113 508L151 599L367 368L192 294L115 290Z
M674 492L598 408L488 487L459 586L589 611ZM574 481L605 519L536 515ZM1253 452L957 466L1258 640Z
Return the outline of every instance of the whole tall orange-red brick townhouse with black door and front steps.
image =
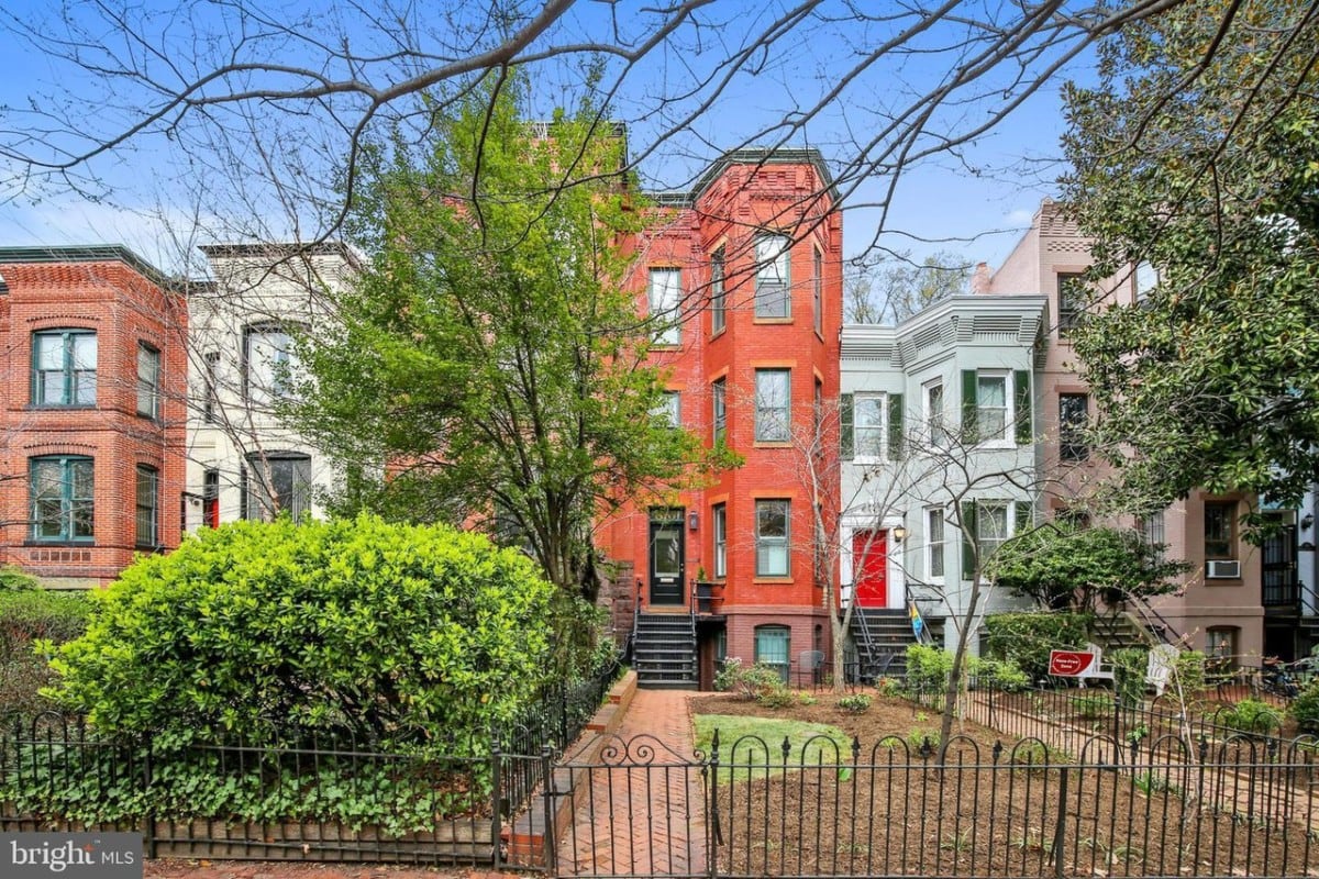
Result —
M650 314L674 318L652 354L670 370L669 412L745 464L601 523L607 557L632 565L623 588L640 592L636 667L642 683L678 687L710 687L723 656L797 673L830 638L803 469L818 412L838 398L832 181L815 150L743 149L691 192L656 200L632 283ZM827 457L819 473L836 472Z

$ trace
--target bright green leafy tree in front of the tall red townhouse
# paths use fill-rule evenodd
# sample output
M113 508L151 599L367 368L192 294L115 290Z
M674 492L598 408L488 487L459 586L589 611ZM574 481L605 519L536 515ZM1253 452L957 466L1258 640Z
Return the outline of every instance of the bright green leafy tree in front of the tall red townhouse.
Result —
M485 526L592 600L596 518L704 463L646 365L685 310L638 314L623 140L591 108L526 121L520 86L368 152L351 228L369 264L306 345L293 415L350 464L353 503Z

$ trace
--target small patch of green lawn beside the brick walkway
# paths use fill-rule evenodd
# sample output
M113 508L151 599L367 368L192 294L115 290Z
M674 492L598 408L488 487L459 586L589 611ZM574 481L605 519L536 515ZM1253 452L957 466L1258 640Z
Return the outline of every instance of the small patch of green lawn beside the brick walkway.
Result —
M735 714L696 714L696 750L710 754L715 730L719 730L719 762L732 767L732 778L744 780L751 775L765 778L778 775L785 768L802 766L836 766L852 760L852 739L847 733L828 723L810 723L781 717L749 717ZM787 759L783 759L783 741L787 741ZM844 770L842 776L849 772ZM720 781L728 780L720 770Z

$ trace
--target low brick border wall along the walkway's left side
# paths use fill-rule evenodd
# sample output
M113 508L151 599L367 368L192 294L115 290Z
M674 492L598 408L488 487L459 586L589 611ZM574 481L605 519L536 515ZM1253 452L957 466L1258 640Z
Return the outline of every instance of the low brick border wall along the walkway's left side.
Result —
M600 759L600 750L605 741L619 731L623 718L632 705L632 697L637 692L637 673L628 669L605 697L605 704L595 713L586 731L571 747L563 751L561 763L596 763ZM575 776L572 770L559 766L551 775L554 784L553 834L554 839L563 837L563 833L572 825L572 799L568 793L579 783L584 783L588 770L578 767ZM537 789L532 795L532 807L513 822L504 828L501 833L506 862L520 867L538 867L545 865L545 799L543 791Z

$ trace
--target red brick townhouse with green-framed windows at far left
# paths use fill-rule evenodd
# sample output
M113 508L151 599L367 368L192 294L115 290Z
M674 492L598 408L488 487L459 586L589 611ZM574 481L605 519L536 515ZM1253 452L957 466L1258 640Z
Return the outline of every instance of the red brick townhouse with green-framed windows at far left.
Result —
M0 563L113 580L178 546L182 294L120 246L0 249Z

